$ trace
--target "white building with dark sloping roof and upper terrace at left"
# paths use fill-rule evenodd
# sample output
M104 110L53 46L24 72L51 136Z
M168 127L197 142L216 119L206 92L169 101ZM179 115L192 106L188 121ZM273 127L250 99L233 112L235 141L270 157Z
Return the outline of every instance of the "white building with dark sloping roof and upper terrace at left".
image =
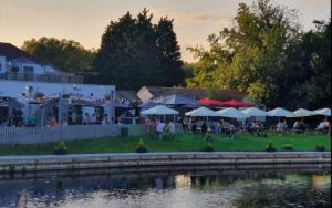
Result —
M0 42L0 98L12 97L24 104L22 111L27 122L31 112L39 107L34 105L31 110L31 98L38 95L69 95L83 100L113 98L115 86L83 84L83 76L61 72L10 43ZM113 114L114 108L107 106L105 112Z

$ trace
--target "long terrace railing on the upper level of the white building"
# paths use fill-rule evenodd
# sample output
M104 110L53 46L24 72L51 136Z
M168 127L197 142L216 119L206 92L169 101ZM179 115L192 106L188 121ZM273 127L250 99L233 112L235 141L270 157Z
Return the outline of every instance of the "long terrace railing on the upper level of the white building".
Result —
M18 80L18 81L37 81L37 82L54 82L54 83L74 83L82 84L84 76L82 75L50 75L50 74L30 74L30 73L13 73L6 72L0 74L2 80Z

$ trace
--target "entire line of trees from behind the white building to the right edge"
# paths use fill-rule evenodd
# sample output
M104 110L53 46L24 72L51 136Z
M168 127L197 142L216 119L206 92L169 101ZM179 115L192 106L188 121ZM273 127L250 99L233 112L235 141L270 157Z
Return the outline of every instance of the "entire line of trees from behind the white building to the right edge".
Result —
M22 49L66 72L97 72L97 83L117 89L237 89L268 107L329 106L331 19L304 32L297 17L270 0L239 3L232 27L208 37L209 49L188 49L195 63L181 61L174 20L154 24L146 9L111 21L97 50L54 38L25 41Z

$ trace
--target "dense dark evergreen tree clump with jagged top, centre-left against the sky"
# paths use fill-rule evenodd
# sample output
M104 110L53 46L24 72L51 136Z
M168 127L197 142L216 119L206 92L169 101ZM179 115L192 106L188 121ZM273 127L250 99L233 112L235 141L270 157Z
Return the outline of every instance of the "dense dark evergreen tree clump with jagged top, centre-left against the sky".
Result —
M173 20L144 9L136 18L129 12L111 21L102 37L94 66L106 82L118 89L137 90L143 85L172 86L183 83L184 72Z

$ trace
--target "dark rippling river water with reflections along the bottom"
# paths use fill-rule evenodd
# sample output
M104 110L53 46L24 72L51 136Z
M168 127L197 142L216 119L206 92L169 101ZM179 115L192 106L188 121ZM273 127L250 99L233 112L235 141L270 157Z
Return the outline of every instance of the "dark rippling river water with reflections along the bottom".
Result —
M330 207L330 166L188 166L0 175L0 207Z

